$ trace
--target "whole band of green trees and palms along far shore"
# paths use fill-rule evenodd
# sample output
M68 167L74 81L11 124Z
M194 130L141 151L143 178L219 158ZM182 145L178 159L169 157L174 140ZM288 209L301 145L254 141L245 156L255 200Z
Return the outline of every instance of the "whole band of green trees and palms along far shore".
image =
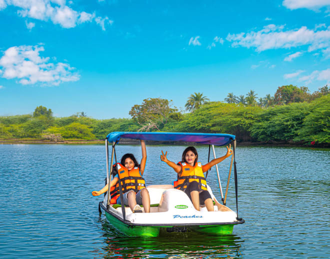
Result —
M43 106L33 113L0 116L1 139L104 139L112 131L173 131L230 133L238 141L330 142L330 94L327 85L309 93L307 87L283 85L273 96L257 99L228 93L223 101L209 101L203 93L191 94L187 112L172 100L146 98L131 107L131 118L94 119L85 112L54 117Z

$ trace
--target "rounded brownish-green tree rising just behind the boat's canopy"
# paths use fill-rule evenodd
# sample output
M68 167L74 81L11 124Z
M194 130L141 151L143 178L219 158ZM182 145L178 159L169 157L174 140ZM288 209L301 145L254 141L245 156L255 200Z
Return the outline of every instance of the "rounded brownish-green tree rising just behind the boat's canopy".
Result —
M149 131L151 129L160 130L160 128L167 122L168 116L177 109L171 108L171 100L162 98L147 98L142 104L135 104L131 107L129 115L141 127L140 131Z

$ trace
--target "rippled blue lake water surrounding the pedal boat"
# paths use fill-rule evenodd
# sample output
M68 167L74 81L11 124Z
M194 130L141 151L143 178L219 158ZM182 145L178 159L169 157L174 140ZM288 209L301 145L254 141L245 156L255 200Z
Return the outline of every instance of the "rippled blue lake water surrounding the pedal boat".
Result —
M147 184L175 173L160 150L178 161L185 146L148 146ZM216 147L221 156L225 147ZM141 159L138 145L118 145ZM207 162L207 146L197 146ZM103 145L0 145L1 258L329 258L330 152L294 147L236 149L238 212L232 235L170 233L127 238L99 215L93 197L105 178ZM219 163L223 189L229 159ZM207 177L220 199L215 167ZM227 205L235 209L233 174Z

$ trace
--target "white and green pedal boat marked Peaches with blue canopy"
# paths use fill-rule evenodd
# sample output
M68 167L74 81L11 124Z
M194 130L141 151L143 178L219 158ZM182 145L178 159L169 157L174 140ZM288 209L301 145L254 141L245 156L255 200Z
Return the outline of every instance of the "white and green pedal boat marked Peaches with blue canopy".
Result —
M108 162L108 143L112 143L110 164L113 164L113 159L115 158L115 161L117 160L115 157L115 144L120 138L208 144L208 158L211 147L215 157L214 145L221 146L231 143L233 147L233 155L231 155L224 197L218 168L216 166L222 204L218 203L211 188L207 185L207 190L211 194L213 204L219 204L220 210L226 211L218 210L217 205L214 205L214 211L207 211L204 206L201 206L198 211L193 207L189 197L182 190L175 189L173 185L170 184L160 184L146 186L150 195L150 213L132 213L128 206L110 204L110 197L107 195L109 191L107 191L104 194L103 201L98 204L98 210L100 213L102 210L105 211L105 216L109 223L120 233L127 236L143 237L154 237L168 232L187 231L205 233L208 235L223 235L231 234L235 224L244 223L244 220L238 217L237 172L234 158L236 140L234 135L177 132L111 132L105 139L106 183L111 181L111 171L109 171L109 169L112 170L112 166L109 168ZM234 165L236 212L225 206L232 164ZM206 177L207 172L205 178ZM120 191L121 203L123 203L122 198L122 191Z

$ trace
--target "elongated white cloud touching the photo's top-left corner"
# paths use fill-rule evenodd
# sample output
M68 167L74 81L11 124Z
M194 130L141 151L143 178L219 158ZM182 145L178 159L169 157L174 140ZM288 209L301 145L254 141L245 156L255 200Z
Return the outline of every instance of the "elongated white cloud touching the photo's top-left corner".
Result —
M54 24L59 24L63 28L72 28L77 24L92 20L99 24L95 19L95 13L73 10L65 4L65 0L0 0L0 9L9 5L18 8L17 14L19 16L43 21L51 20ZM98 18L98 21L108 20L107 17ZM111 24L112 20L109 20L108 23ZM103 28L105 30L104 26L102 26Z

